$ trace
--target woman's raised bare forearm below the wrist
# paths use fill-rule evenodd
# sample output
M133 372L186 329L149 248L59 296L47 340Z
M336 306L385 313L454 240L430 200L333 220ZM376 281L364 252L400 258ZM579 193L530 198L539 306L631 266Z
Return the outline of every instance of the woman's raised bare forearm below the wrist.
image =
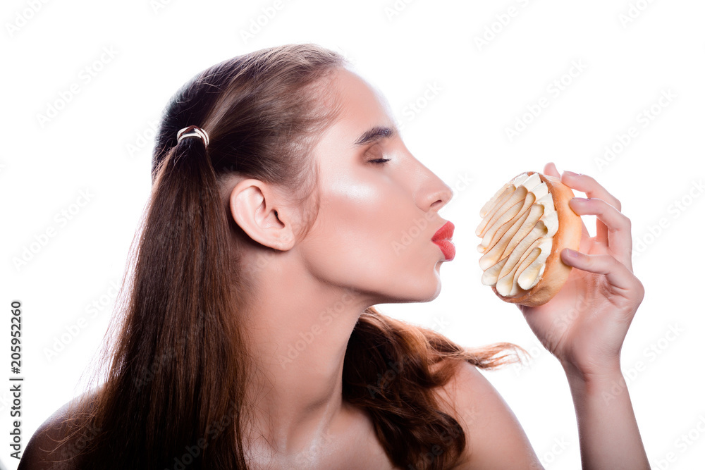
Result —
M585 469L649 469L622 372L586 378L564 366L572 394Z

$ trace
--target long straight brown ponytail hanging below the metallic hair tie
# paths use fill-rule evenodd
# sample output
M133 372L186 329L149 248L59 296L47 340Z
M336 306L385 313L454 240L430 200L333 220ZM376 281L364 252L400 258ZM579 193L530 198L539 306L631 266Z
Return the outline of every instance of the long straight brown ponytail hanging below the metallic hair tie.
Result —
M241 443L231 452L247 381L221 209L204 142L181 140L155 173L131 303L95 403L93 448L111 455L102 468L245 468Z

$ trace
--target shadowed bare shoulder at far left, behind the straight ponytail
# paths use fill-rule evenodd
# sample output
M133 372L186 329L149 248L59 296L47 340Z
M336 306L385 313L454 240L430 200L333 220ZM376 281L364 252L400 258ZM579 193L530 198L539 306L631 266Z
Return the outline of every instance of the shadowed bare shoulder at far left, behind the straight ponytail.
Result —
M72 431L83 398L66 402L37 428L25 447L18 470L76 470L72 457L86 443L85 437L75 437Z

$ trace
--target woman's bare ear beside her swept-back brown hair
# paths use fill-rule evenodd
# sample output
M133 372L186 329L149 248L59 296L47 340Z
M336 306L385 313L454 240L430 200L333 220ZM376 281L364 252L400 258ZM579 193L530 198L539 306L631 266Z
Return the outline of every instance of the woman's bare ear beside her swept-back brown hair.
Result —
M260 245L281 251L294 246L293 212L269 184L240 181L230 194L230 211L235 223Z

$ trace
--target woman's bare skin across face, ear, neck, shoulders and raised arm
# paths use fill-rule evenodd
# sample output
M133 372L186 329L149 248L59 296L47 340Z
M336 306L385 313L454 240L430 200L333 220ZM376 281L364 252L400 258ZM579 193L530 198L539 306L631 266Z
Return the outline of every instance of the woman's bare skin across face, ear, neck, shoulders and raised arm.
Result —
M246 441L252 469L392 469L369 416L342 400L348 339L365 308L429 302L441 290L445 259L431 237L446 223L438 211L453 192L405 147L376 89L345 69L331 86L343 114L312 154L319 211L260 180L233 177L223 187L252 239L241 247L245 266L256 266L248 271L252 302L239 313L259 371L247 391L256 403ZM355 145L375 127L393 132ZM552 163L544 173L558 176ZM631 269L629 221L589 176L565 172L561 179L591 198L570 205L599 218L597 237L583 226L584 254L561 253L575 267L563 290L522 311L568 375L584 468L648 468L626 390L608 403L601 397L623 378L620 347L644 295ZM404 239L412 227L423 228ZM438 394L467 437L456 468L541 468L516 416L477 368L463 364ZM38 443L49 437L49 422L27 445L31 463L41 461Z

